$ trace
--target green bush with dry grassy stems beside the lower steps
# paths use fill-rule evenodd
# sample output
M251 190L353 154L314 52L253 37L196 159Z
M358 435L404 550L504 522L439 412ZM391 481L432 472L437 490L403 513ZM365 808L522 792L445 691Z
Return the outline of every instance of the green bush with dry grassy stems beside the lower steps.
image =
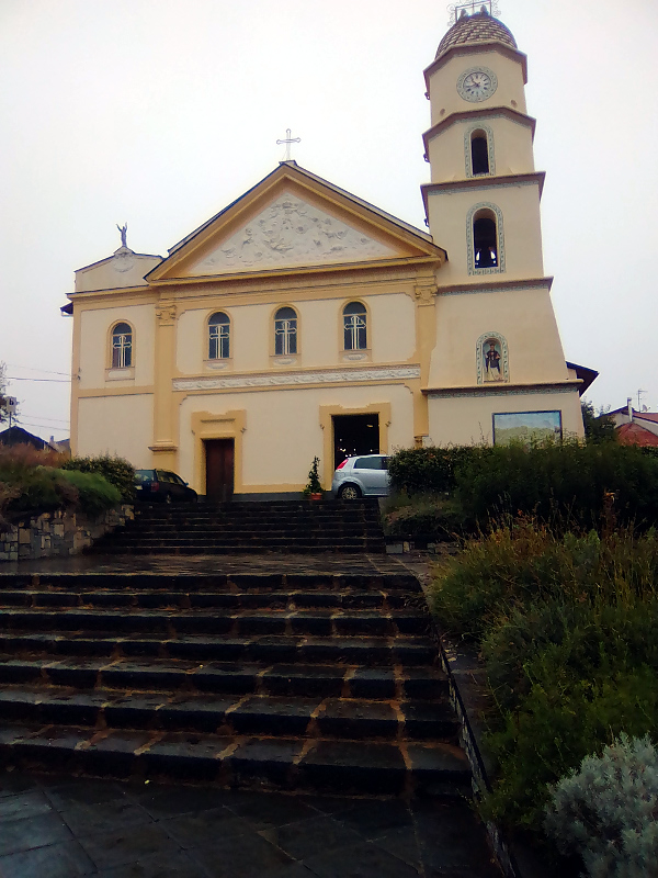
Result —
M548 785L626 731L658 727L658 540L494 528L435 569L430 603L473 639L494 695L486 811L541 829Z

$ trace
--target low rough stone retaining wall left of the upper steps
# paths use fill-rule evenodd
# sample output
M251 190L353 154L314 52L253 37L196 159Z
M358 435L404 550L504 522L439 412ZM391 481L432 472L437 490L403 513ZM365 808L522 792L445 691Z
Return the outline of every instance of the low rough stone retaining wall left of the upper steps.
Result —
M103 533L133 517L133 507L127 505L109 509L95 518L61 509L44 513L0 530L0 562L78 554Z

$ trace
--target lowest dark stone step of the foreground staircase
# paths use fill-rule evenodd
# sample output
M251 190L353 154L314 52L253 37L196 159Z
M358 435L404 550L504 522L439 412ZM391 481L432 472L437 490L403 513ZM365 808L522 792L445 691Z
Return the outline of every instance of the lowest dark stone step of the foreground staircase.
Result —
M25 770L216 783L245 788L358 795L469 793L464 752L442 742L238 738L161 731L97 731L12 723L0 759Z

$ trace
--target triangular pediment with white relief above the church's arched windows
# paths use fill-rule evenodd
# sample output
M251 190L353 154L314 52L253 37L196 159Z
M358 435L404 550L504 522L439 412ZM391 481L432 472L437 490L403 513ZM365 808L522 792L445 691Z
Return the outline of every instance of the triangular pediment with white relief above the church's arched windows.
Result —
M296 168L280 168L173 248L150 282L441 259L429 236Z

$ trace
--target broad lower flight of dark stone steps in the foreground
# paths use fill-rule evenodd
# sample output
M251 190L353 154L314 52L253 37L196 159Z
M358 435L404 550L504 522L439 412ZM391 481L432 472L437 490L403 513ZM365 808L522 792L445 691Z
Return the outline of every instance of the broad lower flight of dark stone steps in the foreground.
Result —
M178 515L144 510L137 539L161 528L161 547L188 551ZM324 520L322 504L313 515ZM225 510L208 516L230 531ZM238 519L231 532L242 534ZM121 551L135 551L134 533L117 538ZM365 570L362 558L347 555L341 572L338 559L324 572L317 559L287 573L228 562L222 572L219 559L185 571L164 555L150 569L89 559L87 572L0 572L1 763L254 789L468 793L418 581L385 556L384 572Z

